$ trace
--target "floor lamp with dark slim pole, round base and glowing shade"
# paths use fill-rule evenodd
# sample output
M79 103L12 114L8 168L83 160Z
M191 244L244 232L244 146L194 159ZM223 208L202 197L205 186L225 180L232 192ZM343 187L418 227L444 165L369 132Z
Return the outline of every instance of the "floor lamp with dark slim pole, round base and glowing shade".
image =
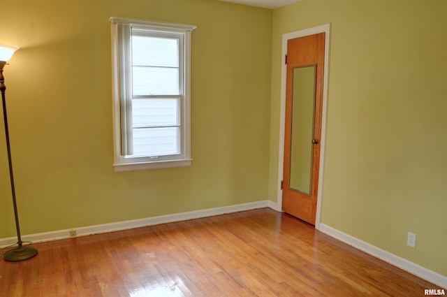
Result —
M15 187L14 187L14 177L13 177L13 162L11 160L11 150L9 145L9 131L8 131L8 118L6 117L6 100L5 100L5 78L3 78L3 67L16 50L19 48L15 45L7 45L0 43L0 92L1 101L3 103L3 119L5 121L5 135L6 135L6 147L8 148L8 161L9 161L9 176L11 182L11 191L13 192L13 205L14 205L14 215L15 215L15 227L17 229L17 245L15 249L11 249L3 255L5 261L17 262L30 259L37 254L37 249L34 247L24 247L22 238L20 238L20 227L19 227L19 216L17 213L17 203L15 202Z

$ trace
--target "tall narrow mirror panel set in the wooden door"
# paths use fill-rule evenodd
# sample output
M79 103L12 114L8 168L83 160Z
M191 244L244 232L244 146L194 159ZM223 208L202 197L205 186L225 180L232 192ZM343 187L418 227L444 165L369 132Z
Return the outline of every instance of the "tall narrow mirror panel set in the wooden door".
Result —
M315 65L293 68L289 188L310 195L314 134Z

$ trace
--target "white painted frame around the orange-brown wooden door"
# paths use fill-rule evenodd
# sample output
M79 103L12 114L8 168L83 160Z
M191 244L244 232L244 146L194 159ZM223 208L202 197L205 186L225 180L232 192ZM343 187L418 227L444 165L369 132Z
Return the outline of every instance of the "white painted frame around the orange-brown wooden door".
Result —
M286 75L287 65L285 57L287 54L287 41L289 39L299 38L303 36L325 33L324 45L324 73L323 73L323 113L321 115L321 149L320 149L320 168L318 172L318 194L316 197L316 218L315 229L319 229L321 220L321 200L323 197L323 173L325 160L325 143L326 143L326 117L328 111L328 68L329 68L329 42L330 42L330 24L322 24L321 26L293 31L282 35L282 52L281 52L281 109L279 113L279 159L278 159L278 191L277 191L277 209L282 211L282 189L281 180L283 180L284 170L284 133L286 122Z

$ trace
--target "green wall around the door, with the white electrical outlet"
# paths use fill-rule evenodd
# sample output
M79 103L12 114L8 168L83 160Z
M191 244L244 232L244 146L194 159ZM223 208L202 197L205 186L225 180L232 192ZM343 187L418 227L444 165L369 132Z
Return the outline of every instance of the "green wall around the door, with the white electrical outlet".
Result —
M331 24L322 223L447 276L447 2L302 0L274 10L270 197L282 34ZM406 246L407 232L416 248Z

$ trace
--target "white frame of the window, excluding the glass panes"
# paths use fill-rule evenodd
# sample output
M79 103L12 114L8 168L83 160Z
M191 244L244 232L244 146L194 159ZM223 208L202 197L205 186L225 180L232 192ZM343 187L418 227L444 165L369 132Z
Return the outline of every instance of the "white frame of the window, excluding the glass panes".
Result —
M113 145L115 172L140 171L156 168L191 166L191 119L190 119L190 73L191 73L191 31L196 26L133 20L110 17L112 28L112 99L113 99ZM127 133L126 118L132 116L131 108L131 29L150 34L176 34L183 41L180 45L179 63L182 69L180 81L180 154L167 156L126 156ZM145 33L146 34L146 33Z

